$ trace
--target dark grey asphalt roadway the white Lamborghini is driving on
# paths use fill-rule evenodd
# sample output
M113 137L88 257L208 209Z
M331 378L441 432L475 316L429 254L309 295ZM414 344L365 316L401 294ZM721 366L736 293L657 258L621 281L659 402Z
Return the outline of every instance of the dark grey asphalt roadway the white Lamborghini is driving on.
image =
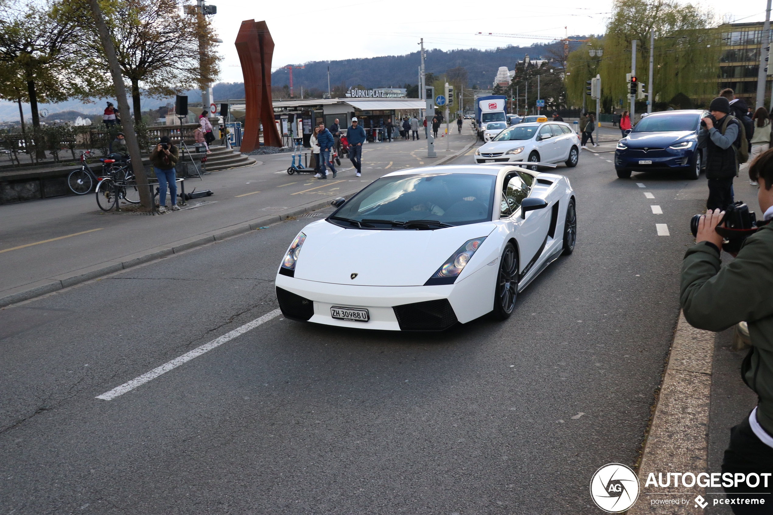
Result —
M0 310L2 513L601 513L588 483L637 459L706 193L610 155L557 168L577 249L503 323L278 316L95 398L275 310L302 217Z

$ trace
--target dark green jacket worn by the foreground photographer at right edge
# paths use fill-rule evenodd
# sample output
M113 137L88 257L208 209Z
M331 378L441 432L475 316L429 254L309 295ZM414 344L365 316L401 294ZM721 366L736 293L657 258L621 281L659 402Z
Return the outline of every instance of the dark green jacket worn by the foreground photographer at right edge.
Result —
M749 236L727 266L707 242L687 249L679 300L690 325L719 332L749 324L744 382L759 397L757 419L773 435L773 223Z

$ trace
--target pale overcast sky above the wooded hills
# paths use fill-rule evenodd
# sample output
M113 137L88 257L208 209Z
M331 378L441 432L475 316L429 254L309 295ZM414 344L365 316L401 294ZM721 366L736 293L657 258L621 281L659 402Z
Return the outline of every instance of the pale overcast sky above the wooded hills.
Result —
M243 20L265 20L274 38L272 66L308 61L402 55L415 52L424 38L426 48L496 48L529 45L546 39L601 34L612 2L405 2L396 0L341 0L333 2L254 2L209 0L217 6L213 22L223 43L220 81L242 82L239 58L233 42ZM721 17L727 2L700 2ZM481 5L471 8L471 5ZM764 0L737 0L730 15L737 22L764 20ZM566 29L564 29L566 27ZM476 36L495 32L526 37ZM331 77L332 82L337 82Z

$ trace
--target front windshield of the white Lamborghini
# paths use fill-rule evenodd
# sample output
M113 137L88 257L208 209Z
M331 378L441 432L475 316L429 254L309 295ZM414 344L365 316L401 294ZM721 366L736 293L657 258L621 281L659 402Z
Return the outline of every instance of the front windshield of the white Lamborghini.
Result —
M329 220L353 229L442 229L491 220L495 175L410 174L383 177Z

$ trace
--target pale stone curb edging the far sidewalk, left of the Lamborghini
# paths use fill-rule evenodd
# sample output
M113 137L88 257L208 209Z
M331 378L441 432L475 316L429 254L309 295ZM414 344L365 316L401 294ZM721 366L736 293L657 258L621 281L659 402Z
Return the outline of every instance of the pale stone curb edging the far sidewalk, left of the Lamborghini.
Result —
M468 151L473 145L475 145L475 141L462 148L461 151L445 156L433 166L437 166L438 164L443 164L446 161L457 158L459 155ZM358 187L350 191L342 192L340 196L349 198L360 189L361 188ZM101 276L107 276L108 274L117 272L121 269L128 269L132 266L148 263L155 259L162 259L166 256L171 256L172 254L177 254L185 250L195 249L196 247L204 246L212 242L218 242L222 239L230 238L231 236L244 234L256 229L261 229L262 227L271 225L273 223L282 222L291 217L304 215L308 212L326 208L329 205L329 200L308 202L307 204L298 206L297 208L285 209L281 213L265 215L257 219L247 220L247 222L228 225L221 229L204 232L203 234L191 236L186 239L180 239L176 242L167 243L166 245L135 252L128 256L111 259L105 263L99 263L97 265L88 266L87 268L73 270L58 276L36 281L35 283L18 286L16 288L12 288L11 290L5 290L0 292L0 307L6 307L15 303L22 302L24 300L34 299L36 296L46 295L48 293L55 292L56 290L62 290L63 288L73 286L78 283L85 283L88 280L92 280Z

